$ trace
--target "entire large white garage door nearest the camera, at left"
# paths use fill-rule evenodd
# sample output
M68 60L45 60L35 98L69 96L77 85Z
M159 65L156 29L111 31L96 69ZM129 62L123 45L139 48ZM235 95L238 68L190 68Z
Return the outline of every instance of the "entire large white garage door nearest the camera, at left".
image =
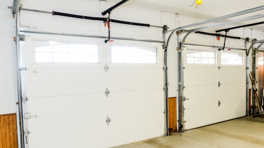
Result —
M25 147L103 148L164 135L161 43L103 40L26 35Z

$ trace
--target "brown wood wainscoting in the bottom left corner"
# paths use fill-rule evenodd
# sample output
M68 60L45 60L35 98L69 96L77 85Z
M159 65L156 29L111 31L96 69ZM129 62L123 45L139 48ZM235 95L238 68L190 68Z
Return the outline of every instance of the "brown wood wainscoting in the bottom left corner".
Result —
M18 148L17 115L0 115L0 148Z

